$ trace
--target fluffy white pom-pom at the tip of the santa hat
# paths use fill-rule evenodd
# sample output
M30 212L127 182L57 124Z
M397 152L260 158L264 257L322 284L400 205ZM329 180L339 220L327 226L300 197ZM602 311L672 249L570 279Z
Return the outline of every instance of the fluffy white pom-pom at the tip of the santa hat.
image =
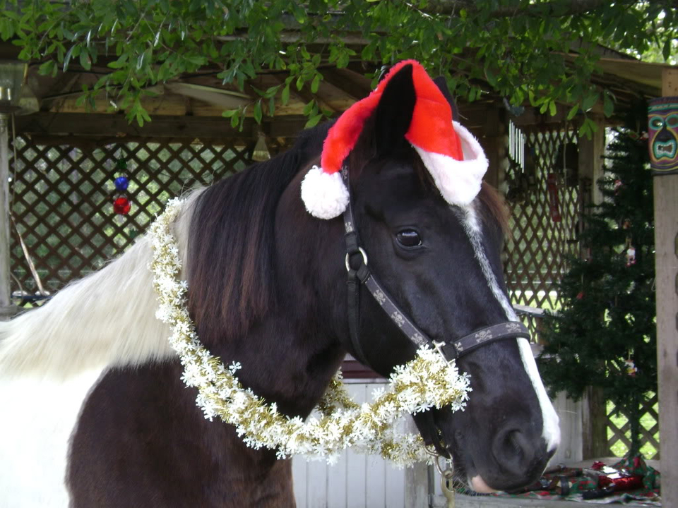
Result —
M302 181L302 201L306 210L319 219L338 217L348 206L348 189L337 171L328 174L314 166Z

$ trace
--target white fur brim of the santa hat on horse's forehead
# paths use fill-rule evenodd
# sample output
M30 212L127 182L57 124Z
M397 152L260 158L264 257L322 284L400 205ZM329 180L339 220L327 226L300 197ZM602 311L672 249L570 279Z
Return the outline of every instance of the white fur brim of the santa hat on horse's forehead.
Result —
M453 121L459 136L464 160L459 161L415 147L424 166L433 176L436 187L450 205L468 205L480 192L482 177L487 171L487 157L478 140L460 123Z

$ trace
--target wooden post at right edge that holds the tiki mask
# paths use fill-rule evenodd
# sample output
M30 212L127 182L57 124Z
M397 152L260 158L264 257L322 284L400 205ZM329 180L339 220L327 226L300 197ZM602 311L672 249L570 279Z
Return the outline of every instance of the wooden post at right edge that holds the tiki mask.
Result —
M665 68L662 95L678 95L678 68ZM662 505L678 506L678 174L654 177L657 370Z

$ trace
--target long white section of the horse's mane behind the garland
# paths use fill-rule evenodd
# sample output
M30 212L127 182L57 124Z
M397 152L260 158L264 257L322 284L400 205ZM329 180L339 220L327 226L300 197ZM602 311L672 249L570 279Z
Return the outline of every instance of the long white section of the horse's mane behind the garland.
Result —
M190 212L182 212L175 224L184 260L189 220ZM91 368L172 356L169 327L155 317L150 260L150 241L142 236L126 253L69 284L44 306L0 322L0 373L63 380Z

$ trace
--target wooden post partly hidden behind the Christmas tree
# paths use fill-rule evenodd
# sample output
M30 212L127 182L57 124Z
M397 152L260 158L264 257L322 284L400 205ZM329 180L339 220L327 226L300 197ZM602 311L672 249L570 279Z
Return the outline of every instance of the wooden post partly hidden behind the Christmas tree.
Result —
M603 160L605 154L605 119L596 117L597 131L590 139L579 138L579 177L588 179L591 183L590 196L581 196L592 205L602 202L602 193L597 181L603 175ZM588 253L582 253L587 255ZM602 316L601 316L602 319ZM582 459L594 459L607 456L607 401L603 397L602 389L588 387L581 401L581 428Z

